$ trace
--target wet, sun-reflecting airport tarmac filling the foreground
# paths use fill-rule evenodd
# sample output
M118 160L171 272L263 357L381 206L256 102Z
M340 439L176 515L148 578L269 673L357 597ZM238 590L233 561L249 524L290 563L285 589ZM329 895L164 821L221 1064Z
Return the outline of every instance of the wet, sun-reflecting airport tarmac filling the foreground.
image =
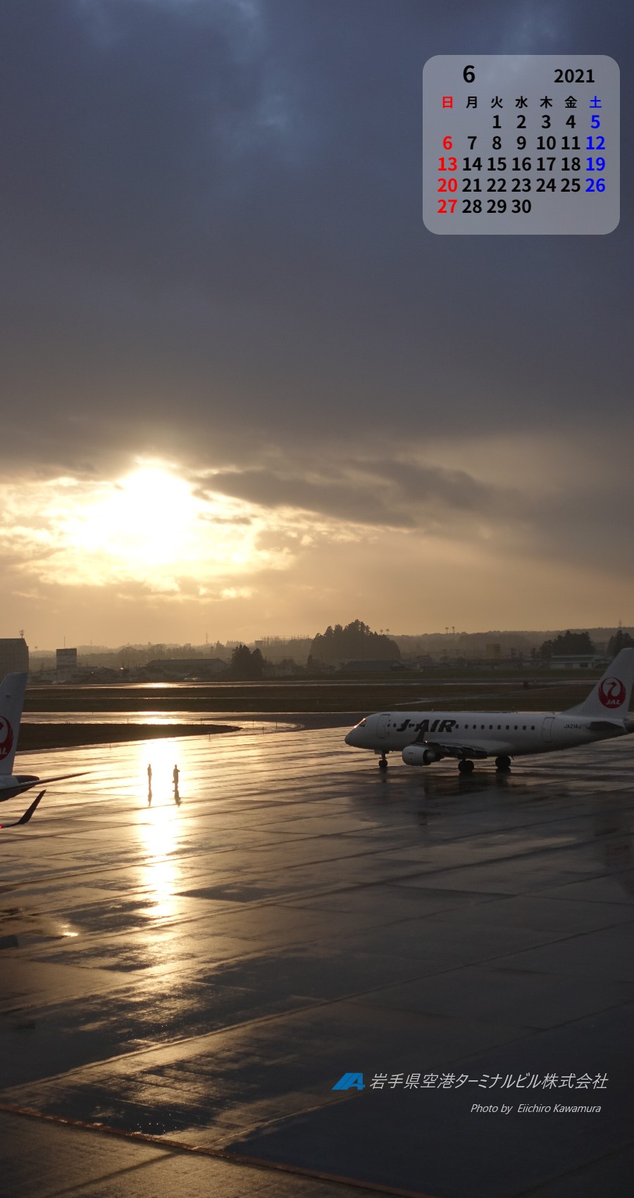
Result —
M19 769L89 774L0 834L1 1198L629 1198L633 738L471 778L339 728Z

